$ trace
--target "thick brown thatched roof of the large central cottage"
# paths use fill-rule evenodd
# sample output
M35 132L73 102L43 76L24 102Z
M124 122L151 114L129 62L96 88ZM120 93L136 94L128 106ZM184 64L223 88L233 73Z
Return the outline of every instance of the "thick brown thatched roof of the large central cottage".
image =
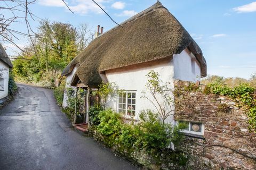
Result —
M75 64L78 78L86 85L97 85L100 73L123 66L139 64L180 54L189 48L206 76L202 51L180 22L159 2L95 38L63 70L69 74Z

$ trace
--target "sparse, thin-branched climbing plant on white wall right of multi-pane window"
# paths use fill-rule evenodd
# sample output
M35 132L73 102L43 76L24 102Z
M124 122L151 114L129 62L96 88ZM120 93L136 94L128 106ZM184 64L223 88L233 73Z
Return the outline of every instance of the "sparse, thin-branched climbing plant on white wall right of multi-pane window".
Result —
M154 70L150 70L146 76L148 78L146 89L150 92L151 97L146 96L146 92L142 92L142 97L148 99L154 105L158 115L162 118L162 125L164 126L164 121L173 115L174 111L174 96L173 90L170 87L171 83L166 82L164 84L159 79L159 73Z

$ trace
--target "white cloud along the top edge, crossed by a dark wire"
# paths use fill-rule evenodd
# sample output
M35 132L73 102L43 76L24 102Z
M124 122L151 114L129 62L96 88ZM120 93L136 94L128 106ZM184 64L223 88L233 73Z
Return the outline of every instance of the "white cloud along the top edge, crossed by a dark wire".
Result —
M97 2L102 8L105 8L103 3L108 3L110 1L95 0L95 2ZM66 5L62 2L62 0L39 0L38 3L44 6L65 7L66 10L68 11ZM93 1L73 0L71 4L68 4L68 6L71 9L71 11L81 15L86 15L90 13L96 13L96 14L103 13L101 8L98 5L96 5Z

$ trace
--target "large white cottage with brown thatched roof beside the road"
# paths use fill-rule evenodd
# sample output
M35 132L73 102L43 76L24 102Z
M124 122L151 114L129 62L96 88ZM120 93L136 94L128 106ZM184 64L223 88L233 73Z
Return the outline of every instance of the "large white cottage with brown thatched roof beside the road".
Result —
M138 118L143 109L154 109L141 98L150 70L163 82L175 79L200 81L206 76L206 61L201 49L181 23L159 2L99 35L71 61L62 76L66 87L97 88L114 82L123 95L108 103L125 117ZM67 106L66 95L63 106ZM171 117L169 122L172 122Z

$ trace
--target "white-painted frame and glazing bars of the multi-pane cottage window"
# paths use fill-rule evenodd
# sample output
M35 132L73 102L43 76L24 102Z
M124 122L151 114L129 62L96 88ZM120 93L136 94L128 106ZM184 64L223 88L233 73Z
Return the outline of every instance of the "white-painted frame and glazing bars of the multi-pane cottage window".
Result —
M125 93L125 103L119 103L119 94L124 94ZM135 98L132 98L131 97L131 105L134 105L135 106L135 109L134 110L131 110L131 109L128 109L128 94L129 93L134 93L135 94ZM135 117L135 115L136 115L136 96L137 96L137 91L135 91L135 90L124 90L124 91L120 91L120 92L118 92L118 94L117 94L117 113L120 113L120 114L124 114L124 116L127 116L127 117ZM123 99L123 97L122 97L122 99ZM130 99L130 98L129 98ZM132 104L132 99L135 99L135 104ZM123 108L119 108L119 104L125 104L125 109L123 109ZM122 110L124 110L125 111L125 113L122 113L122 112L119 112L119 109L122 109ZM128 115L128 111L134 111L134 115Z

